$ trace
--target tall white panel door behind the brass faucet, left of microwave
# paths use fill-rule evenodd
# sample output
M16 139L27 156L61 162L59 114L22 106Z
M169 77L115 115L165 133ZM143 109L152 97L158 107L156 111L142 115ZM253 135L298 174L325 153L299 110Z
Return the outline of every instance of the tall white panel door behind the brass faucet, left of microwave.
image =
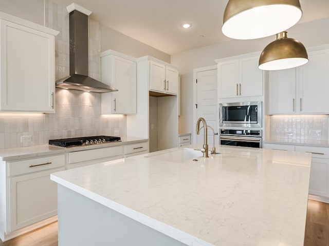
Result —
M217 70L208 70L197 72L197 118L203 117L207 125L215 131L215 144L218 144L218 103L217 103ZM202 126L202 125L201 125ZM194 126L193 129L195 129ZM204 143L204 130L196 137L198 144ZM208 129L209 149L213 147L213 132Z

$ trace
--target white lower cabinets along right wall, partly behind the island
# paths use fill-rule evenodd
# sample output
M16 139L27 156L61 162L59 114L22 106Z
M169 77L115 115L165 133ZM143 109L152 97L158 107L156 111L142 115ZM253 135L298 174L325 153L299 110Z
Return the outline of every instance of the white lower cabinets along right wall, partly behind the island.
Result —
M263 147L312 153L308 193L322 197L322 201L329 201L329 148L280 144L264 144Z

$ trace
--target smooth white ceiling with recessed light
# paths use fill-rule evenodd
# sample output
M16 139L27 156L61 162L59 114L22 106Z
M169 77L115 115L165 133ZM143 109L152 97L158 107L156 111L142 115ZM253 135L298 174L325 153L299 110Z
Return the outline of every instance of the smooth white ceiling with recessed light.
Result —
M222 34L228 0L53 0L93 11L91 18L167 54L230 40ZM329 17L328 0L301 0L299 23ZM184 22L190 29L181 28Z

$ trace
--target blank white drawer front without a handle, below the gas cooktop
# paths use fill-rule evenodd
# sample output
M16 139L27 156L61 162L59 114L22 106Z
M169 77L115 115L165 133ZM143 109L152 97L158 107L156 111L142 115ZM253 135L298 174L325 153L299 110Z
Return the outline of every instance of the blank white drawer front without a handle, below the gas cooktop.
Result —
M82 161L97 160L113 156L122 157L122 146L71 152L68 154L68 163L71 164Z

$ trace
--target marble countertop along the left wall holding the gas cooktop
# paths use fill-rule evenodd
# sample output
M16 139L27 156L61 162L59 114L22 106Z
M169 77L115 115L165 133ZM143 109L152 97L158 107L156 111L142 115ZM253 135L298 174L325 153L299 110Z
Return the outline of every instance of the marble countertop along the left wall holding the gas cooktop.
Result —
M36 145L30 147L20 147L11 149L0 149L0 161L20 160L25 158L41 157L47 155L57 155L61 153L108 148L120 145L134 144L137 142L148 141L149 139L137 137L121 137L121 141L108 142L101 145L88 145L77 147L58 147L52 145Z

